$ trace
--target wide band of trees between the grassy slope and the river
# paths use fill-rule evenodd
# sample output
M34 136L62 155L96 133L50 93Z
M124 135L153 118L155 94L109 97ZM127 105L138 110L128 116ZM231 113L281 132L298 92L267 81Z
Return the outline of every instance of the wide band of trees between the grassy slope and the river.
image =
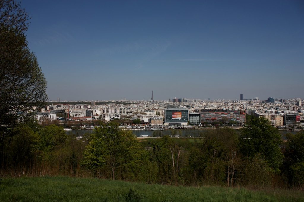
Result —
M116 123L80 140L35 121L14 128L2 175L70 175L170 185L304 187L304 133L283 142L269 121L252 118L238 133L218 128L202 138L138 139ZM15 174L14 174L15 173Z

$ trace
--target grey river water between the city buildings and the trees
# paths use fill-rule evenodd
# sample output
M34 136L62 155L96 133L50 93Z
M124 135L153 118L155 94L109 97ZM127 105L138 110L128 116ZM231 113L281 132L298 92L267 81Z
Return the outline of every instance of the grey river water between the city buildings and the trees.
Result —
M140 137L141 135L147 135L147 136L164 136L164 135L178 135L182 137L199 137L205 133L207 133L209 130L212 129L175 129L175 130L132 130L132 132L137 136ZM282 137L285 138L286 133L297 133L296 131L282 131L279 130ZM93 130L69 130L66 131L67 135L76 135L76 136L83 136L85 133L93 133ZM173 134L172 134L173 133Z

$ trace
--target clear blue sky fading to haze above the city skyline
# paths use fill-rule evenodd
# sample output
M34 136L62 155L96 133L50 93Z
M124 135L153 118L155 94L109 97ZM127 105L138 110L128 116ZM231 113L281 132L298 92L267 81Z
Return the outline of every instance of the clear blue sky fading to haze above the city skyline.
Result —
M49 99L304 97L303 1L22 2Z

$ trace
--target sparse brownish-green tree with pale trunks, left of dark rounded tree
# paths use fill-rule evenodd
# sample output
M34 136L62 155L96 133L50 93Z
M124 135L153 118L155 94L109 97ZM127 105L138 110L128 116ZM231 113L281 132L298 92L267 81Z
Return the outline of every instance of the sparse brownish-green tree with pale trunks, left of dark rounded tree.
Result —
M233 186L240 166L237 134L229 128L211 130L189 152L189 169L201 182Z

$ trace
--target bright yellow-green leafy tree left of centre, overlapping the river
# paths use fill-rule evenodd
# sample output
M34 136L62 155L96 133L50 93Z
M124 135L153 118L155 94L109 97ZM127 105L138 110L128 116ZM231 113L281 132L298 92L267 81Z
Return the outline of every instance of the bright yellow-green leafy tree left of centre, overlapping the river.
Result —
M97 128L86 146L82 164L95 173L98 169L108 168L112 180L116 179L117 172L134 176L140 167L136 136L132 131L119 130L112 122Z

